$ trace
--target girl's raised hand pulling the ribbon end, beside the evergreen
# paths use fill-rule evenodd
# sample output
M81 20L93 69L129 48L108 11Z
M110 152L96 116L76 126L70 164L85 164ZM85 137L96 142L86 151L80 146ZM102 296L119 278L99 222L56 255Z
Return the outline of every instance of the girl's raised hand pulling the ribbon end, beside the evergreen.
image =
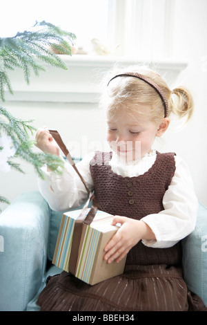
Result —
M59 156L59 147L46 127L37 131L35 140L36 146L41 149L41 151L46 154Z

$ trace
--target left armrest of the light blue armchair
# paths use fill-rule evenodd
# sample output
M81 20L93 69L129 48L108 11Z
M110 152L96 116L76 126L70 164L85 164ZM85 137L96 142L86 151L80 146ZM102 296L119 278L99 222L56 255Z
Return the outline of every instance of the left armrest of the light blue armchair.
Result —
M46 270L50 208L39 192L21 194L0 215L0 310L26 310Z

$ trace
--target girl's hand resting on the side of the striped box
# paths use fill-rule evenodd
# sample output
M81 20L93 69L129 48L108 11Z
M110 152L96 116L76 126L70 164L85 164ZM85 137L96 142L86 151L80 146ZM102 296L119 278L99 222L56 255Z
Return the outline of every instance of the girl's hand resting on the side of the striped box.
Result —
M112 225L117 223L121 223L121 227L104 248L104 259L107 263L121 261L141 239L155 239L155 234L144 221L115 216Z

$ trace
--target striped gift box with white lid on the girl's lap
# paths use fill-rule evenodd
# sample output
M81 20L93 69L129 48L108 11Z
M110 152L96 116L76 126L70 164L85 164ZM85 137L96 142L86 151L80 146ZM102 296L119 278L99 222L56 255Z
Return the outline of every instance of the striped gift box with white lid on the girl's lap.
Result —
M82 223L75 269L71 270L73 232L80 212L81 210L75 210L63 214L52 263L91 285L123 273L126 259L110 264L103 260L105 254L103 249L112 235L117 232L118 227L111 225L113 218L111 214L100 210L97 211L90 225Z

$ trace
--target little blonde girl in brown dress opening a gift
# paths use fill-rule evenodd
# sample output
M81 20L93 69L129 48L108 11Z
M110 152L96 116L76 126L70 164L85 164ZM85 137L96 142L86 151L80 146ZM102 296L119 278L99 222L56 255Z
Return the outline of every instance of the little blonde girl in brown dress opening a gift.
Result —
M170 113L190 118L192 97L184 88L170 91L160 75L140 67L113 74L107 84L111 151L88 154L77 168L95 191L99 210L121 224L104 259L118 263L127 254L124 274L90 286L63 271L50 278L37 303L41 310L206 310L181 270L180 241L193 232L197 216L188 167L173 153L152 150ZM47 129L39 129L36 139L39 149L59 155ZM66 211L88 198L68 163L61 176L47 167L45 175L39 189L52 210Z

